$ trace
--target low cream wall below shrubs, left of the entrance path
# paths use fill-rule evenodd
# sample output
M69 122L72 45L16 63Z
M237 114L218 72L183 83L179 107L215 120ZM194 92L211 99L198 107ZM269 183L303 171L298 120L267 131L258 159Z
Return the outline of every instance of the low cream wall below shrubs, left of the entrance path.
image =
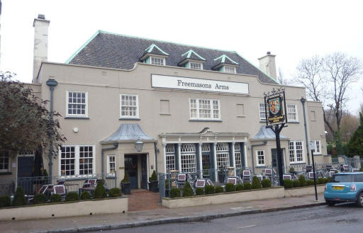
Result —
M99 215L122 213L123 211L128 211L128 198L106 198L1 208L0 221L32 220L48 217L70 217L90 214Z

